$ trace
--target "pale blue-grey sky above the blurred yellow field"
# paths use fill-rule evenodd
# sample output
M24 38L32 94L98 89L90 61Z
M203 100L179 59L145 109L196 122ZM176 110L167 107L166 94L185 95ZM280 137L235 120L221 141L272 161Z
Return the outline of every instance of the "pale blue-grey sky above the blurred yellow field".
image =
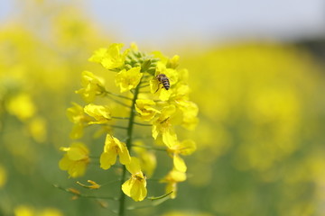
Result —
M325 33L325 0L92 0L85 11L128 42L296 40ZM1 0L0 22L13 1Z

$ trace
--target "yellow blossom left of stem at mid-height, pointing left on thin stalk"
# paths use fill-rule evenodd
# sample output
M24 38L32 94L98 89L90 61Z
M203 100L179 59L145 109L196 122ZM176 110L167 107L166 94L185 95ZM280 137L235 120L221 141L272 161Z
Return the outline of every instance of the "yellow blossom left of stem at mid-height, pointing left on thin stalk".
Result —
M89 121L88 124L104 124L110 121L111 114L107 106L89 103L85 106L84 112L93 117L96 121Z

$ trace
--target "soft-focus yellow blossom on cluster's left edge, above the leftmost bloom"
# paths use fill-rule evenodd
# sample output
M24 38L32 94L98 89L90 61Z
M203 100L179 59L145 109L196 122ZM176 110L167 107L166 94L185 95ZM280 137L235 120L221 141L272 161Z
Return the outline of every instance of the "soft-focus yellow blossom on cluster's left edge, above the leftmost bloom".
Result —
M67 116L74 123L70 132L71 139L79 139L83 136L83 129L91 121L91 118L85 114L84 108L78 103L72 103L73 106L67 109Z

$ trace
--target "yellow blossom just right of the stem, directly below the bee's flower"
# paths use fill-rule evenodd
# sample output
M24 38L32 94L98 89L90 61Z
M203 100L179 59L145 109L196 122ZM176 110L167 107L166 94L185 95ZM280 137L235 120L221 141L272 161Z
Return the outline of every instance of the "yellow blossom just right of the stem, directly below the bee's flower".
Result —
M177 140L176 133L172 129L172 115L175 112L176 108L174 105L165 106L158 119L153 121L153 138L157 139L158 135L161 134L163 143L167 147L172 147Z

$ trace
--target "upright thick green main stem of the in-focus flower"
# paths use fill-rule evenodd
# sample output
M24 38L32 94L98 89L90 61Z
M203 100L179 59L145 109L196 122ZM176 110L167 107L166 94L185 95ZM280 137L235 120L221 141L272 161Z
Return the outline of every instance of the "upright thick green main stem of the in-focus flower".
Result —
M131 111L130 111L130 118L128 121L127 125L127 139L126 139L126 147L129 152L131 152L131 147L132 147L132 134L133 134L133 129L135 125L135 102L137 99L137 95L139 94L139 89L141 85L141 80L139 85L136 86L135 92L134 92L134 98L132 99L132 105L131 105ZM123 173L121 177L121 185L124 184L125 182L125 175L126 175L126 167L123 166ZM118 211L118 216L124 216L125 215L125 193L121 190L120 193L120 198L119 198L119 211Z

